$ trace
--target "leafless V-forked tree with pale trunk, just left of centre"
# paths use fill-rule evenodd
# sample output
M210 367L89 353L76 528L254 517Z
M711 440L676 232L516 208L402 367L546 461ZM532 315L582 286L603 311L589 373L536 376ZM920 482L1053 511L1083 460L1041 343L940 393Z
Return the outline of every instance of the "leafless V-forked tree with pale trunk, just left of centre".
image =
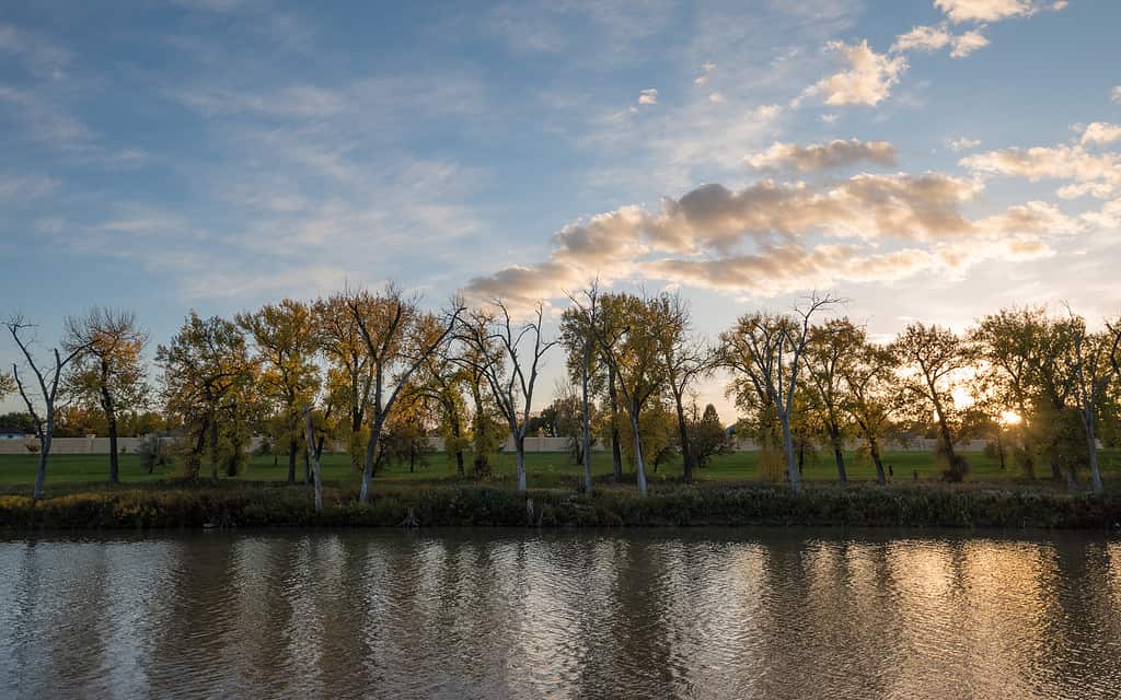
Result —
M534 388L541 358L557 340L541 339L544 305L537 302L534 315L518 326L501 299L491 301L493 312L476 311L466 324L462 338L474 346L471 354L460 355L470 363L490 386L499 412L510 428L517 459L518 491L526 491L526 431L534 401ZM528 352L524 349L529 343Z

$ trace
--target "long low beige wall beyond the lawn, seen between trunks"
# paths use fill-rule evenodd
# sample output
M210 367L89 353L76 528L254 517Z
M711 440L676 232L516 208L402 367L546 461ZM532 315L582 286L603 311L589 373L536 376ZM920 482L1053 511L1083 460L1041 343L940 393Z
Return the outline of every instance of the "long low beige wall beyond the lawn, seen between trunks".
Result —
M135 452L137 447L139 447L141 438L118 438L117 448L124 452ZM433 449L437 452L444 450L444 441L441 438L428 438L429 444ZM260 438L253 438L251 447L257 447L259 445ZM897 442L897 441L886 441L881 445L880 449L886 452L893 451L915 451L915 452L929 452L934 450L937 440L932 438L916 438L908 442ZM526 438L526 451L527 452L566 452L569 449L572 442L568 438ZM39 441L35 439L34 436L27 436L25 439L15 440L0 440L0 455L29 455L33 454L33 449L38 449ZM860 449L862 447L859 442L851 442L847 445L849 449ZM962 442L958 446L964 452L980 452L985 447L985 440L970 440L967 442ZM602 444L596 442L592 447L593 451L601 451L605 449ZM740 440L735 445L735 450L739 452L753 452L759 448L751 440ZM502 451L512 452L513 451L513 440L508 439L502 446ZM109 438L55 438L50 442L50 452L53 455L108 455L109 454Z

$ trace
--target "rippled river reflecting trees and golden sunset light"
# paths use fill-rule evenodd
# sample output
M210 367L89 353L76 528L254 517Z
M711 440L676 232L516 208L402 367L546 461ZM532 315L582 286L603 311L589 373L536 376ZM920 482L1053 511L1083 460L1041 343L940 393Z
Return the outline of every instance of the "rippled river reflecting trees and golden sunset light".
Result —
M1121 697L1104 534L36 536L0 600L6 698Z

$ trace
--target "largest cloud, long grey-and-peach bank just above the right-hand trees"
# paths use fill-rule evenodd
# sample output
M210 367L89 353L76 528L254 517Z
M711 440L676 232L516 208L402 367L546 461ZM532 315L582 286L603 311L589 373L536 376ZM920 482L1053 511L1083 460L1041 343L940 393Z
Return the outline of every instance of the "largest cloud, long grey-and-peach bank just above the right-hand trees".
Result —
M656 214L629 206L565 226L547 261L475 278L465 292L528 304L608 273L772 295L1047 255L1046 236L1080 230L1040 202L970 221L962 207L981 187L938 172L862 174L818 186L762 180L739 190L705 185L665 199Z

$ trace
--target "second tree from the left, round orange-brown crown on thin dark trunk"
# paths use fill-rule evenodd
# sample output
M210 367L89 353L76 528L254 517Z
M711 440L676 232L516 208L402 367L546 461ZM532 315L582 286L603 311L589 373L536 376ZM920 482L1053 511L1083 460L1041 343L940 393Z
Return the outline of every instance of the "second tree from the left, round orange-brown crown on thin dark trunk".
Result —
M121 404L143 403L149 386L145 381L140 353L148 334L139 327L136 315L94 307L82 317L66 319L67 351L80 353L67 375L67 389L81 401L96 403L105 413L109 428L109 480L120 482L120 455L117 449L117 414Z

